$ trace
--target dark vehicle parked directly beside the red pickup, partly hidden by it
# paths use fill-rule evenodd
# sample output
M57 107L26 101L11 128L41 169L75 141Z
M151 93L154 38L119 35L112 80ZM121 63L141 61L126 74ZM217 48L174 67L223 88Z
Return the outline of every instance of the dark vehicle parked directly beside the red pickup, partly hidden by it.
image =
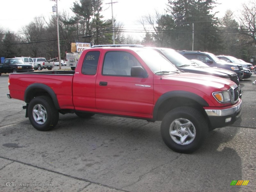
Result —
M177 67L181 71L189 72L189 73L204 74L204 75L212 75L216 77L229 79L235 82L239 86L239 90L240 90L239 78L237 76L237 73L233 71L215 68L215 67L209 67L205 63L203 63L203 65L206 65L206 67L199 66L196 63L188 60L183 55L179 54L174 49L156 48L156 47L147 47L147 48L153 49L161 53L162 55L164 55L173 65L175 65L175 67Z

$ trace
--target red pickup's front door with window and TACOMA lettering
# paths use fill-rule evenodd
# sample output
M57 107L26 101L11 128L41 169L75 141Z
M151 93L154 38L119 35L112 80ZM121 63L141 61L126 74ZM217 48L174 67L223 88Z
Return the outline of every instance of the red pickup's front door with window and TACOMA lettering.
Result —
M153 78L131 77L131 68L142 66L141 63L124 51L106 52L102 62L96 79L97 109L149 118L153 110Z

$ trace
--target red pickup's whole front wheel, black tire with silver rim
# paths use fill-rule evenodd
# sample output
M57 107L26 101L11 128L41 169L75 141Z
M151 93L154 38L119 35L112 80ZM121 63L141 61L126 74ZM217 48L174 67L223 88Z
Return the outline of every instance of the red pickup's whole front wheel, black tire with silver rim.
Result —
M196 151L207 133L206 119L198 110L191 107L183 106L169 111L161 123L164 143L178 153Z

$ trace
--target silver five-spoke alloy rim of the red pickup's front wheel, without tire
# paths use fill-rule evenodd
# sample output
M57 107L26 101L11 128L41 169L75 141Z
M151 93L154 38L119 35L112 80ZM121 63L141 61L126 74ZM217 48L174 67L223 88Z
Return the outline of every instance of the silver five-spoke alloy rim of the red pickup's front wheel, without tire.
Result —
M196 129L188 119L175 119L169 128L172 140L179 145L188 145L196 137Z

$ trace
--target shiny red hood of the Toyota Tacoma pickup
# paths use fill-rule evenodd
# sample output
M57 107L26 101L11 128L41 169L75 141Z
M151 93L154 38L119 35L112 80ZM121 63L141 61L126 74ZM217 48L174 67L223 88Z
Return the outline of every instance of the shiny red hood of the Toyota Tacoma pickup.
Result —
M225 78L196 73L178 73L163 75L162 79L166 80L164 84L169 84L168 80L172 80L176 81L174 84L178 86L187 86L190 88L196 88L200 90L204 89L204 87L214 87L221 90L228 90L230 87L236 84L233 81Z

